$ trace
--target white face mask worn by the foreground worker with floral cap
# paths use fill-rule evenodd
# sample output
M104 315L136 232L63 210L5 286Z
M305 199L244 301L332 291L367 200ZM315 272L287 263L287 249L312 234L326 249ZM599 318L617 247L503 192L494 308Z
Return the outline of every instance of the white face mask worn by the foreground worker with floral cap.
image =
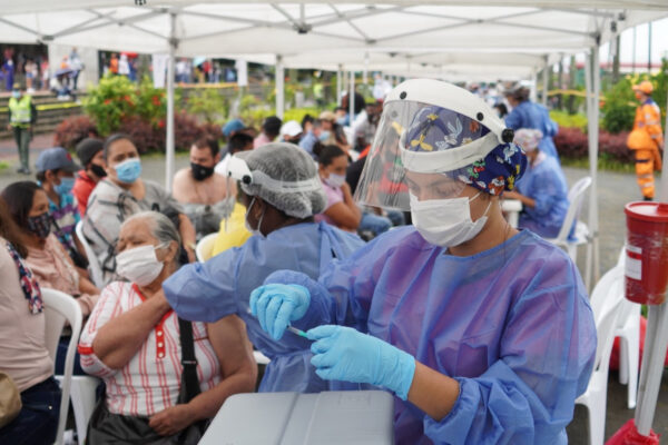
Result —
M466 243L480 234L488 220L487 212L492 205L491 200L483 216L475 222L471 219L469 202L481 192L471 199L461 197L425 201L418 200L418 197L411 194L413 226L428 243L436 246L453 247Z

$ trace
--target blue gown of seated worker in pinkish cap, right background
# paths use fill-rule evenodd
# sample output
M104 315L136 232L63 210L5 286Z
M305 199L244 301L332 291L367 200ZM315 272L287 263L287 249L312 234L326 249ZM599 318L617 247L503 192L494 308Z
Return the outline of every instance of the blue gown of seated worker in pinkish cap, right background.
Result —
M568 188L557 159L542 151L517 184L518 191L536 200L536 207L524 206L519 226L546 237L559 235L568 212Z

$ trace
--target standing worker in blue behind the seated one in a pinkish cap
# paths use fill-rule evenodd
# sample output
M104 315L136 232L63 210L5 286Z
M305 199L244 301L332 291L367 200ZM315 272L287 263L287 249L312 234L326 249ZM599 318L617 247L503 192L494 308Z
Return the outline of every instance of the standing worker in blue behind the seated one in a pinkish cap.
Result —
M529 90L524 87L510 91L505 98L512 107L512 111L505 117L505 125L513 130L520 128L540 130L543 135L539 145L540 151L551 156L559 162L559 154L552 140L552 137L559 132L559 126L550 119L548 109L529 100Z

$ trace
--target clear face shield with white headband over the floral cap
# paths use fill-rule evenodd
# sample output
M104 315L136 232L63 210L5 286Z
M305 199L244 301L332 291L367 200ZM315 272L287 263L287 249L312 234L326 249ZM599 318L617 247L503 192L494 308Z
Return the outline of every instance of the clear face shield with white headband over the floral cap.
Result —
M355 199L409 211L410 195L455 198L475 178L477 162L508 137L512 131L468 91L433 80L403 82L387 96Z

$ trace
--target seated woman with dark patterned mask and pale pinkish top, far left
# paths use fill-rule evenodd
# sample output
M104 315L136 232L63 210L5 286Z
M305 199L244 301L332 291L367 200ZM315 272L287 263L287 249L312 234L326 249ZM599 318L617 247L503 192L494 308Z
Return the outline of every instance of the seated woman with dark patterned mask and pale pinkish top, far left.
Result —
M28 256L26 264L40 286L63 291L77 298L81 314L87 317L99 298L100 290L75 267L62 244L51 231L49 198L43 189L32 181L20 181L2 190L13 221L20 227ZM62 374L69 336L60 338L56 356L56 373ZM84 370L75 363L75 374Z

